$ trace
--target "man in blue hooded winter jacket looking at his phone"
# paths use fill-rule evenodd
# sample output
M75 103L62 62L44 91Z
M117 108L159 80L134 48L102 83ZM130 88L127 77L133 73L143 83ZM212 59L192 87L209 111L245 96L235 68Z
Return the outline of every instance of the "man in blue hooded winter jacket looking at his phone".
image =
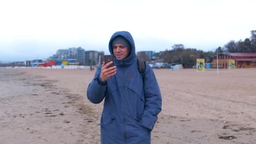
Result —
M162 98L154 71L147 64L144 82L138 71L135 43L129 32L115 32L109 40L112 62L97 68L87 89L88 99L104 99L101 143L150 143Z

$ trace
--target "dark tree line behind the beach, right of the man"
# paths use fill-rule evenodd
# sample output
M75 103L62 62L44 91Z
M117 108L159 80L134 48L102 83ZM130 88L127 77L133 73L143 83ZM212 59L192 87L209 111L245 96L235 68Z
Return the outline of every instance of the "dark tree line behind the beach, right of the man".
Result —
M216 52L256 52L256 30L251 31L251 37L245 40L231 40L223 47L217 47L215 51L204 52L202 50L185 48L183 44L174 44L172 50L155 53L157 59L162 59L168 64L182 64L184 68L192 68L196 65L197 58L205 59L210 63Z

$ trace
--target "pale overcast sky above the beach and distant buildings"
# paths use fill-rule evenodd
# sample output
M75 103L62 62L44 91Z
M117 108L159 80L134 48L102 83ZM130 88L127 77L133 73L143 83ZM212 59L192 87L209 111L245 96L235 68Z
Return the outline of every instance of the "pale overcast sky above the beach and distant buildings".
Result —
M114 32L128 31L136 51L174 44L214 51L256 30L255 0L0 1L0 62L32 61L59 49L109 53Z

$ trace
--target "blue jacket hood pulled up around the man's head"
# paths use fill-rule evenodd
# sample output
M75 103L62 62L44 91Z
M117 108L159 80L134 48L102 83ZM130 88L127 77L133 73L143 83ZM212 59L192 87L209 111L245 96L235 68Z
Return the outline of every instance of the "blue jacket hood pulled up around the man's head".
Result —
M108 44L109 52L111 55L114 55L113 48L112 48L112 40L118 36L124 37L131 44L131 51L130 51L130 55L128 57L126 57L125 59L120 60L120 59L116 59L114 57L114 63L120 64L120 65L129 65L136 59L135 43L132 38L132 35L129 32L126 32L126 31L115 32L109 40L109 44Z

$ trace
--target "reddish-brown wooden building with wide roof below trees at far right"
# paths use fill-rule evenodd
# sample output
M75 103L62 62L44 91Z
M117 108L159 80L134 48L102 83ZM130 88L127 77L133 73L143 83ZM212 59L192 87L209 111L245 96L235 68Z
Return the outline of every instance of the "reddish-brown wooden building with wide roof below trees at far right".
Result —
M228 68L229 61L235 61L235 68L256 68L256 53L219 53L218 68ZM217 68L217 56L213 57L212 68Z

